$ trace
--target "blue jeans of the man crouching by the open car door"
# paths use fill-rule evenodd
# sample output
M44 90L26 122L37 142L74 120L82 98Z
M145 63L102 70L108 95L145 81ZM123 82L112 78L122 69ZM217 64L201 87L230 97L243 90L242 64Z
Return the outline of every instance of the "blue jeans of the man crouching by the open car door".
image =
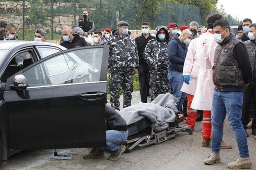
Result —
M128 137L128 130L118 131L118 130L107 130L106 131L106 141L107 147L104 149L109 151L117 151L120 149L120 144L126 142Z

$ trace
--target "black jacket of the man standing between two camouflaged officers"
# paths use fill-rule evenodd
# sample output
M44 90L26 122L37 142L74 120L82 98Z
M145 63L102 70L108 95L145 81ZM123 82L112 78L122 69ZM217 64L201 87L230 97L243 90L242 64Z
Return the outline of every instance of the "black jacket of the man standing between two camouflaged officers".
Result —
M139 66L147 66L147 63L145 62L143 58L143 52L145 50L145 47L149 40L155 39L154 36L149 35L147 39L143 36L143 34L135 39L135 42L137 44L137 50L138 50L138 63Z

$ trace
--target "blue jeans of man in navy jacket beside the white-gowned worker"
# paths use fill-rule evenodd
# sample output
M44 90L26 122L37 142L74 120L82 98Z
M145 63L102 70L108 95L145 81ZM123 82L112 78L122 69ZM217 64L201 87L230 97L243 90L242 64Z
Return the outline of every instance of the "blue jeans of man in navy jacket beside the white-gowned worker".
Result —
M179 111L180 114L183 114L182 111L182 105L183 102L186 98L186 93L181 92L180 89L182 87L183 84L183 75L182 72L178 72L178 71L168 71L168 75L167 75L168 80L171 83L172 89L173 89L173 95L174 97L176 97L177 99L179 99L179 102L177 103L177 109Z

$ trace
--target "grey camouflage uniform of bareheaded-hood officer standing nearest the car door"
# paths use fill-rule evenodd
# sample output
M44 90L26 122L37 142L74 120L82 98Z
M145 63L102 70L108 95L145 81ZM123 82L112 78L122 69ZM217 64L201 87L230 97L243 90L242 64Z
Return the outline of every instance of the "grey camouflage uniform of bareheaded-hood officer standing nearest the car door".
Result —
M107 41L109 47L109 90L111 106L119 110L119 92L123 88L123 108L131 105L134 69L138 66L137 46L129 34L121 37L113 30Z

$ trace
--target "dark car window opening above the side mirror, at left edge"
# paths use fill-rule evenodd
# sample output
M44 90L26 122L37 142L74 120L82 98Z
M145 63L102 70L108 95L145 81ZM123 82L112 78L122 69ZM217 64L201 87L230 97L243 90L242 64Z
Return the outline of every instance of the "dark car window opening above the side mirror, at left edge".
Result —
M8 63L3 75L1 76L1 81L6 82L9 77L33 63L33 52L31 50L16 54Z

